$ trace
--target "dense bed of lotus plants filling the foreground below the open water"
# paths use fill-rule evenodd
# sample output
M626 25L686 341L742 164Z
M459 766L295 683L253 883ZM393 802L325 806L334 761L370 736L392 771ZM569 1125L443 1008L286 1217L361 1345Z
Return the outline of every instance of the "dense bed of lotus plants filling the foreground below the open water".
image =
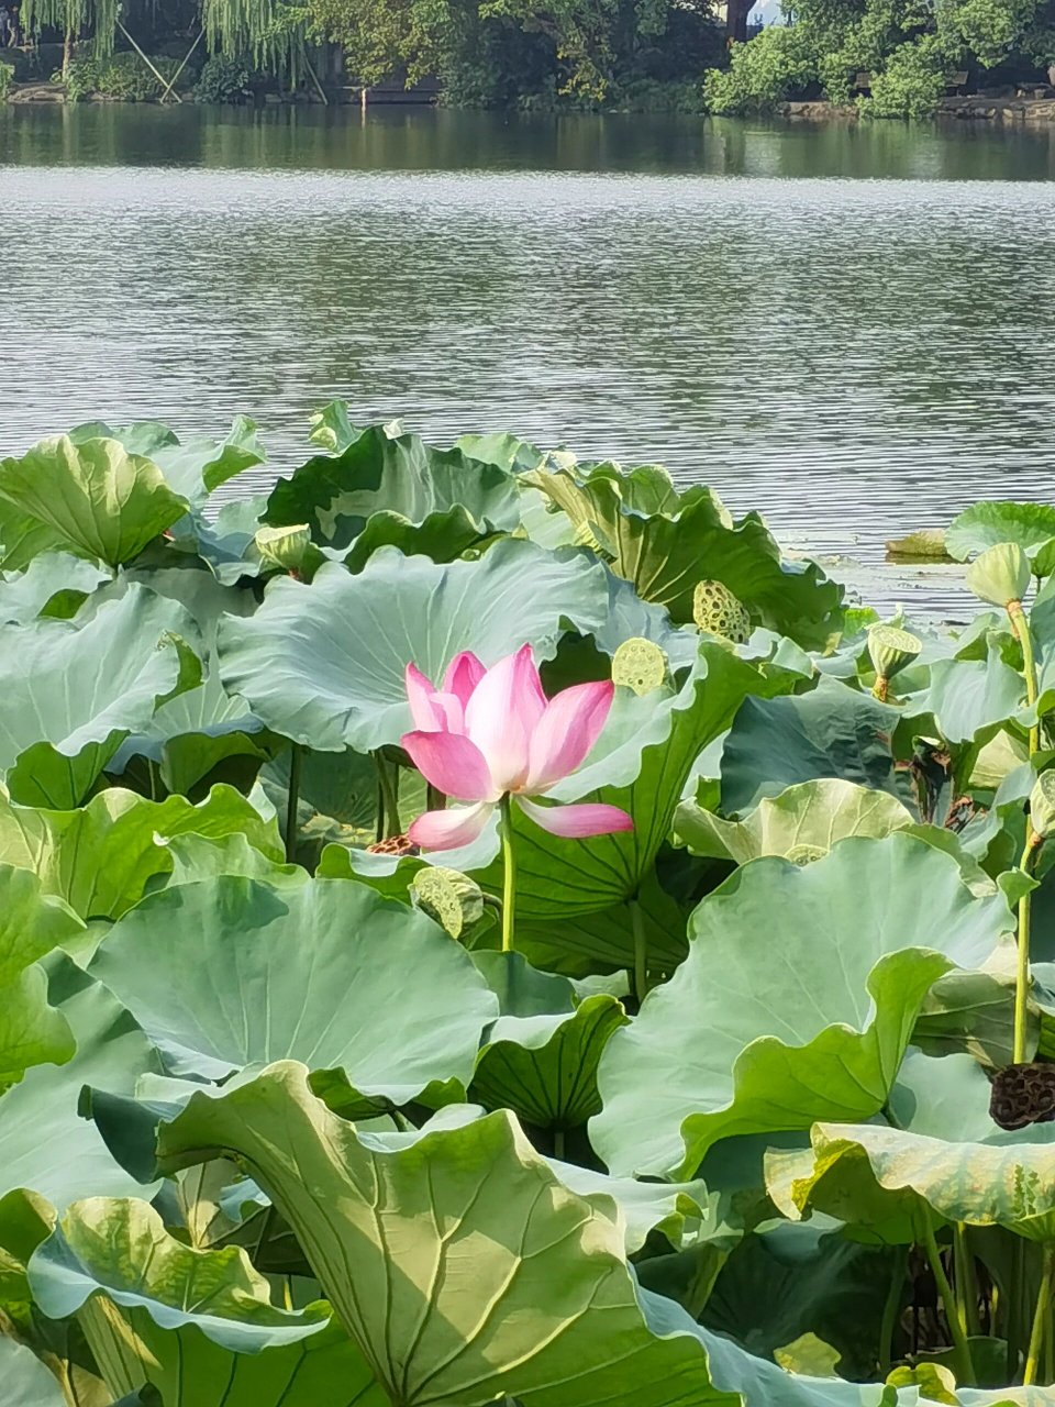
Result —
M263 461L0 463L3 1407L1055 1401L1055 508Z

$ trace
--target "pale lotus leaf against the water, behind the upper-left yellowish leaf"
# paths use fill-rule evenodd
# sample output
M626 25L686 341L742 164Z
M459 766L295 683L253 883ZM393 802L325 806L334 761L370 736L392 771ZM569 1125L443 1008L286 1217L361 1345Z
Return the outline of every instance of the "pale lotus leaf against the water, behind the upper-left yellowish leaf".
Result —
M174 431L159 421L138 421L115 428L93 421L77 425L69 438L75 445L90 439L118 440L129 454L153 460L166 484L191 504L204 502L214 488L267 459L256 436L255 422L245 415L235 416L222 440L203 436L180 443Z

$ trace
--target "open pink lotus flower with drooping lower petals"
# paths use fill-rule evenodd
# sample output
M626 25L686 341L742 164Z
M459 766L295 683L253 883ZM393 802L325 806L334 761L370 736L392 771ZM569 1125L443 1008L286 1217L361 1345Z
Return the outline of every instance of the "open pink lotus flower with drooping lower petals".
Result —
M550 787L582 764L612 706L615 685L575 684L547 699L530 644L485 670L470 650L456 656L435 688L407 666L407 698L416 725L402 746L428 782L471 802L426 810L408 836L423 850L453 850L481 833L505 796L553 836L582 839L633 830L618 806L539 806Z

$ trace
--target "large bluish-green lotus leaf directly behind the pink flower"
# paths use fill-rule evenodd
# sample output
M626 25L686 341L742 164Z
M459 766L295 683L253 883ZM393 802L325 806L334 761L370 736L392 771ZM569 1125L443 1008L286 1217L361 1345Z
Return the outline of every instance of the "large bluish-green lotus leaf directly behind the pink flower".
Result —
M564 618L587 633L606 605L603 567L578 553L508 540L478 561L437 566L381 549L357 577L336 563L309 587L283 577L252 619L225 620L222 680L276 732L366 753L411 726L409 661L442 678L459 650L494 664L530 642L549 658Z

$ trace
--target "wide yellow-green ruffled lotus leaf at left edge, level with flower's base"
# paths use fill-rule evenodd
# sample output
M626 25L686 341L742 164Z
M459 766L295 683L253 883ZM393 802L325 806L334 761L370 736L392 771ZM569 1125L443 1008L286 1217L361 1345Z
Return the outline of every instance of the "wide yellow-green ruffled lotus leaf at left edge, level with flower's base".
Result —
M214 787L197 806L183 796L152 802L117 787L80 810L39 810L0 798L0 862L32 870L44 892L59 895L82 919L117 919L138 903L149 882L172 870L166 840L235 834L281 860L274 822L262 820L231 787Z

